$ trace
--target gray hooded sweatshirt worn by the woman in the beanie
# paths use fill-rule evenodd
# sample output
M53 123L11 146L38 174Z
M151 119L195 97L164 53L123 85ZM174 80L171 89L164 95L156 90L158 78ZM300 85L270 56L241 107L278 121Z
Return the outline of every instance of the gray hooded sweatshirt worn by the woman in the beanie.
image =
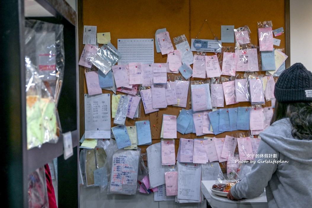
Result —
M266 188L270 208L312 206L312 140L293 138L291 129L287 118L260 133L257 154L267 157L256 158L251 172L231 188L235 198L255 198Z

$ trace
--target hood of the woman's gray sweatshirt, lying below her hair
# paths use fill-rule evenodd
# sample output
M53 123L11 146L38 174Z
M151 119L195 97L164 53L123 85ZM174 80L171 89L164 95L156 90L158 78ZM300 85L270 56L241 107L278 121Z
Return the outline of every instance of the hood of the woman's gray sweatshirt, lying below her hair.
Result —
M299 140L291 135L289 118L280 119L259 134L261 140L297 162L312 165L312 140Z

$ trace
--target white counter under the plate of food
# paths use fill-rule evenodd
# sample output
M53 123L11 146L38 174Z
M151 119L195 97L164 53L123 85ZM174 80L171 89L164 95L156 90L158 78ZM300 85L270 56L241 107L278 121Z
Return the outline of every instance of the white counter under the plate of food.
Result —
M215 181L202 181L202 193L212 208L268 208L266 192L254 199L241 199L233 201L226 196L218 196L212 193L210 188Z

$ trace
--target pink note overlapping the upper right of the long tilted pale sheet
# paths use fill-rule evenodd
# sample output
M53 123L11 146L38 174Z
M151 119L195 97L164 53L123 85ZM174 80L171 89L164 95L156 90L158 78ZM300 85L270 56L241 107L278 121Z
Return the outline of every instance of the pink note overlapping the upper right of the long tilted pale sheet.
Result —
M162 165L175 165L174 139L161 140L161 163Z

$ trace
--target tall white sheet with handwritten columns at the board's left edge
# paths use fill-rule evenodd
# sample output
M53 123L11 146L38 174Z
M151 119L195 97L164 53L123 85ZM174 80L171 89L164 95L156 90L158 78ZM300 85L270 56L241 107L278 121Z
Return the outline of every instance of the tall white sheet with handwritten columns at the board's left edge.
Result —
M110 138L110 94L85 94L85 138Z

